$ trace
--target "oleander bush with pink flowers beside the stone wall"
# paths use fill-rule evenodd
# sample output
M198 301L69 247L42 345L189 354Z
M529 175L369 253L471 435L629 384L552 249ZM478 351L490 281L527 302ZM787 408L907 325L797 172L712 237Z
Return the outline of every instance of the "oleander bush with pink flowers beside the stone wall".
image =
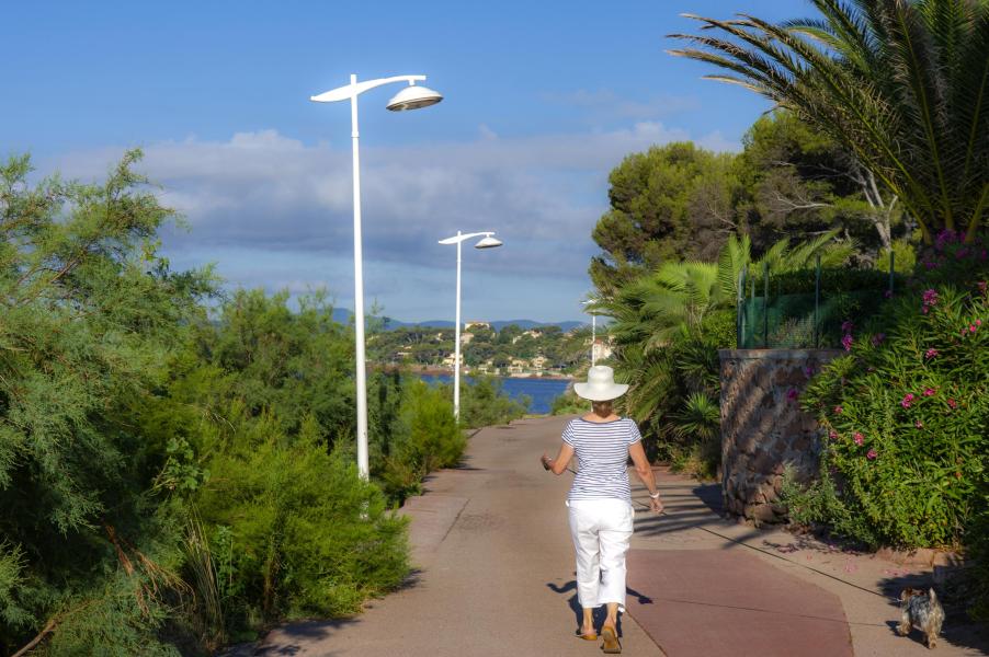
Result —
M936 253L924 262L955 264ZM989 453L985 281L917 286L846 334L848 355L802 395L828 437L822 481L788 491L792 515L869 545L970 540Z

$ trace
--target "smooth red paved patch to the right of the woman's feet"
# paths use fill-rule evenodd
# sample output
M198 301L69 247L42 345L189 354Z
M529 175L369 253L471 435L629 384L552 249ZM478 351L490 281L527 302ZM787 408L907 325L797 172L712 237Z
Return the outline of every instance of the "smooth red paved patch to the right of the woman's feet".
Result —
M632 550L628 588L628 613L669 657L853 655L837 596L749 554Z

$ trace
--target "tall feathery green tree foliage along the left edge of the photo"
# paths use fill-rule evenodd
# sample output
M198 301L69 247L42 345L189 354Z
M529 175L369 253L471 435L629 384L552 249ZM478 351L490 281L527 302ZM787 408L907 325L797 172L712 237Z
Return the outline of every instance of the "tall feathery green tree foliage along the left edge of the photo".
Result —
M0 165L3 653L50 622L60 654L152 654L140 637L179 584L158 576L152 549L170 542L151 498L166 445L136 410L213 281L158 255L156 232L173 216L133 172L138 158L102 184L31 183L26 157Z

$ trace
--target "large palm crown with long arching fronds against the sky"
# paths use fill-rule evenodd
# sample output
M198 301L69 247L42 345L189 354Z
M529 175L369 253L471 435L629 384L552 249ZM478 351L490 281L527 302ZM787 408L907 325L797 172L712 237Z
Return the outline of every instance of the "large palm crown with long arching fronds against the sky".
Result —
M897 195L924 241L973 241L989 214L989 2L811 0L819 18L771 24L693 14L718 36L673 34L837 139Z

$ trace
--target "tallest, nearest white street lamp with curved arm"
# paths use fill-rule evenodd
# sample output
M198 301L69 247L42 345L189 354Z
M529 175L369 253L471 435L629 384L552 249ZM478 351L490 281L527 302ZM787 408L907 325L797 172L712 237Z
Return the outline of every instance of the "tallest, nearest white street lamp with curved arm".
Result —
M357 96L383 84L408 82L409 87L399 91L388 101L386 107L393 112L418 110L435 105L443 96L427 87L417 87L417 81L425 80L425 76L395 76L378 80L357 82L356 76L350 77L350 84L338 87L326 93L310 96L317 103L334 103L350 101L351 138L353 143L354 169L354 330L356 333L356 374L357 374L357 471L367 480L371 470L367 463L367 365L364 357L364 255L361 246L361 155L359 152L357 131Z

